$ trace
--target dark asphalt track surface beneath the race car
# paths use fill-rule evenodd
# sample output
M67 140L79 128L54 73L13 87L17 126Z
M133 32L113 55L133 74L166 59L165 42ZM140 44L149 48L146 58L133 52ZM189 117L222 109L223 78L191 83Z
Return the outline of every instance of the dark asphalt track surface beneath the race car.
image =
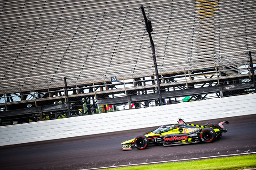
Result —
M149 145L145 150L122 151L123 141L152 129L147 128L2 146L0 170L81 170L256 152L256 114L187 123L203 125L224 120L230 123L224 124L228 132L207 144Z

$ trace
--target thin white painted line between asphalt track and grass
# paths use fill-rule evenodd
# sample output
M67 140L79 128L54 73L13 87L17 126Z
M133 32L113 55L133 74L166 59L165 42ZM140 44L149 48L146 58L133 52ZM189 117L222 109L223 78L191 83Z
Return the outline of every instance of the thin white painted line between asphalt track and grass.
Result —
M187 159L182 159L182 160L166 160L166 161L159 161L159 162L147 162L147 163L140 163L140 164L129 164L129 165L107 166L107 167L89 168L89 169L82 169L82 170L99 170L99 169L117 168L117 167L123 167L123 166L147 165L147 164L159 164L159 163L176 162L176 161L183 161L183 160L199 160L199 159L206 159L206 158L217 158L217 157L223 157L223 156L235 156L235 155L246 155L246 154L256 154L256 152L248 152L248 153L241 153L241 154L231 154L231 155L206 156L206 157L199 157L199 158L187 158Z

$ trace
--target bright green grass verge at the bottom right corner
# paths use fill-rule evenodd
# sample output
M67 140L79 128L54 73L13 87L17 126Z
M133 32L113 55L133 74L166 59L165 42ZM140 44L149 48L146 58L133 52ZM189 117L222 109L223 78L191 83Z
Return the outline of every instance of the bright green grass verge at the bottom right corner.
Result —
M256 155L128 166L105 170L243 170L251 168L256 168Z

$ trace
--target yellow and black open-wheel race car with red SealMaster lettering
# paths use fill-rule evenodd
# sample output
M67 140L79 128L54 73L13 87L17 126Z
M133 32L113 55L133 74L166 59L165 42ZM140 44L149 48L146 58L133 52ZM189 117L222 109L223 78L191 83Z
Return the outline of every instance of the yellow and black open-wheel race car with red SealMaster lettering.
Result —
M227 132L223 124L228 121L210 123L205 125L187 124L179 118L177 124L162 125L155 130L149 130L144 135L136 136L131 140L123 142L123 150L132 150L132 145L143 150L149 144L155 145L180 145L187 143L209 143L220 138L222 133Z

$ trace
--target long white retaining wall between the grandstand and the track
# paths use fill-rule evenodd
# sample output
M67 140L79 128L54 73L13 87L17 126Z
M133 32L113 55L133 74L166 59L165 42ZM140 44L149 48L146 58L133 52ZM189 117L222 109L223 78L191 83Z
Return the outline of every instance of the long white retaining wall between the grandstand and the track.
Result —
M0 146L256 114L256 94L0 127Z

